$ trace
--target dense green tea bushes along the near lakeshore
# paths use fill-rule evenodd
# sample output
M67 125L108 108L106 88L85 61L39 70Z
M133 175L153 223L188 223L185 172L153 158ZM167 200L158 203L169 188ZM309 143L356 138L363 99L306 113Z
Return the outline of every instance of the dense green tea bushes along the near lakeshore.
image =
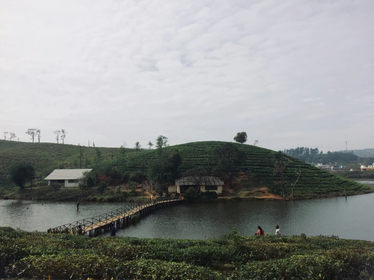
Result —
M337 237L87 238L0 228L0 277L370 279L374 243Z

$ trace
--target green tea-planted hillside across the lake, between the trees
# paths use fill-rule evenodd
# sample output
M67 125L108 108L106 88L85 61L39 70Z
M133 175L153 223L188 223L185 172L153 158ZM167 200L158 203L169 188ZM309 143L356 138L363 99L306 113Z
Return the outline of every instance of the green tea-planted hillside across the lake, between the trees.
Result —
M211 151L225 142L194 142L182 145L166 147L163 149L176 149L181 155L182 162L180 171L194 167L213 167L210 162ZM245 162L241 168L240 176L236 176L235 189L239 191L244 188L251 190L261 186L275 187L276 178L273 175L274 155L276 152L252 145L235 144L245 154ZM84 157L82 168L95 167L95 149L82 147ZM134 149L126 149L123 163L119 148L100 148L102 154L102 166L122 166L128 172L141 172L147 169L149 162L157 157L156 150L141 150L138 153ZM296 184L295 193L298 197L305 194L325 196L331 192L342 194L346 189L348 192L369 192L367 186L344 179L328 171L324 171L304 163L298 159L286 156L290 163L288 165L287 177L289 181L296 179L295 170L301 167L302 174ZM79 168L78 146L62 145L52 143L22 143L11 141L0 141L0 186L9 185L7 174L9 166L16 161L31 163L38 177L43 179L55 168ZM96 161L96 166L98 162ZM225 183L227 179L222 176ZM288 184L288 189L289 188Z

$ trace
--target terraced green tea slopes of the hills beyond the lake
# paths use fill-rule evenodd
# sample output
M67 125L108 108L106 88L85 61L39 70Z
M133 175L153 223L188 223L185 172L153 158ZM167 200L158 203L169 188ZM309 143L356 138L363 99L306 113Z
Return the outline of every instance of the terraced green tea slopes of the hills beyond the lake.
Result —
M226 185L232 181L234 194L252 197L260 188L267 188L272 194L280 195L282 190L279 185L279 176L274 174L276 152L252 145L235 145L243 154L242 163L236 166L232 172L219 172L216 168L217 161L212 160L213 152L218 147L226 145L225 142L195 142L162 148L163 155L172 155L170 158L178 159L178 165L172 170L173 178L182 176L188 169L204 168L209 175L218 176ZM52 172L55 168L94 168L96 173L105 174L109 185L118 185L134 181L137 183L149 180L148 175L154 171L154 177L159 178L155 164L160 158L156 150L134 150L124 148L99 148L74 145L58 145L52 143L20 143L0 141L0 187L9 188L13 184L9 180L9 167L17 161L30 163L39 181ZM365 186L352 180L347 180L325 170L313 167L305 162L284 155L288 161L285 170L287 194L290 195L291 183L296 181L296 171L301 170L301 176L295 184L295 198L318 198L330 196L365 194L372 192L369 186ZM177 166L177 168L176 168ZM153 168L152 168L153 167ZM162 167L162 166L161 166ZM162 167L163 168L163 167ZM171 167L172 169L172 167ZM163 171L161 170L161 173ZM164 175L171 174L163 172ZM232 178L232 174L235 176ZM100 174L99 174L100 175ZM166 178L173 183L173 178ZM165 180L166 180L165 179ZM165 183L166 185L166 183ZM6 191L0 191L4 193ZM9 194L9 190L7 191ZM13 193L22 197L22 192ZM96 196L92 194L91 196Z

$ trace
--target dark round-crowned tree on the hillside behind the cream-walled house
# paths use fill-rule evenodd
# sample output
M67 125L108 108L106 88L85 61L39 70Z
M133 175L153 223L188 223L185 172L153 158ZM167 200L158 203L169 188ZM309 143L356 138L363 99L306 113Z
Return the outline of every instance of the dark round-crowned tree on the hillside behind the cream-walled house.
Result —
M226 173L229 177L229 185L232 188L232 178L244 161L243 152L232 143L225 143L217 147L212 154L215 170Z

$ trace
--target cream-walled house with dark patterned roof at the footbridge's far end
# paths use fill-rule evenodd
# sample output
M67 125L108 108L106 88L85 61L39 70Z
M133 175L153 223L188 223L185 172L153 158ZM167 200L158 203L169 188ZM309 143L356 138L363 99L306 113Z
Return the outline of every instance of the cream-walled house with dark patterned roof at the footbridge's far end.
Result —
M200 185L196 184L196 181L196 178L193 178L192 176L175 180L175 185L169 186L169 192L184 194L188 188L198 188L198 186L200 186L201 192L210 191L222 194L222 186L224 185L224 182L221 179L212 176L203 176L198 180L200 181Z

